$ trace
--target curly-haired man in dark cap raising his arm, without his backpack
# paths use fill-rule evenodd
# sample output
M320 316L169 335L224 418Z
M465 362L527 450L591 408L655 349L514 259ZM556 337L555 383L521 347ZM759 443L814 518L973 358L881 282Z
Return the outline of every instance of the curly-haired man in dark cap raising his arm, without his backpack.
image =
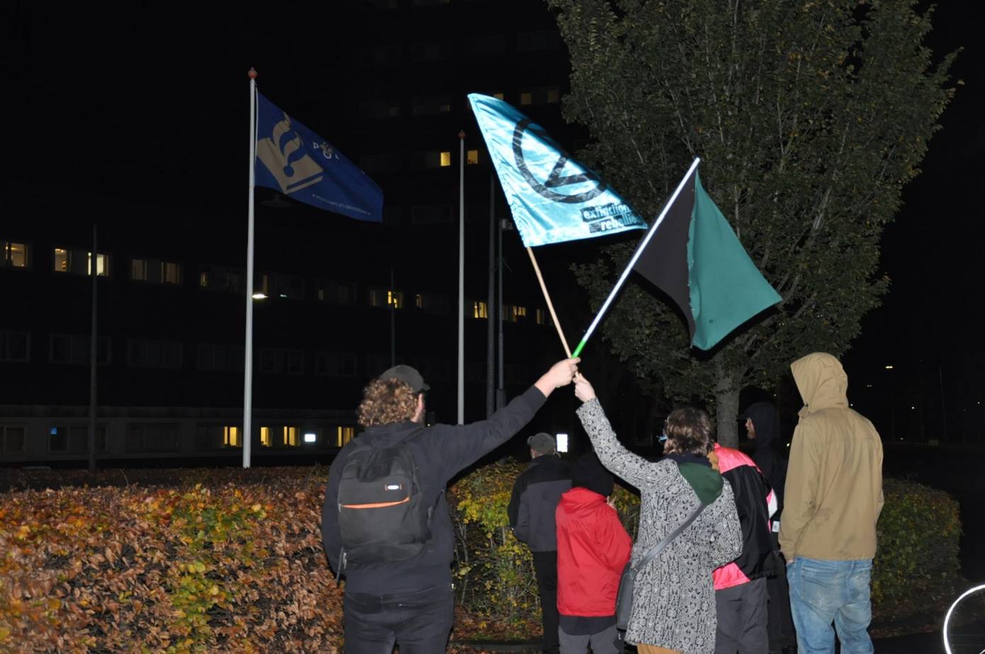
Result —
M454 610L454 533L445 486L459 471L530 422L552 391L571 382L577 362L558 361L523 395L489 420L472 425L425 426L424 392L428 386L409 365L392 367L365 387L359 410L365 430L332 462L322 508L325 554L331 567L346 577L343 612L347 654L391 654L395 643L402 654L444 651ZM434 507L430 536L418 555L361 564L339 559L339 482L352 451L350 445L357 441L378 448L406 442L411 451L421 494L427 505Z

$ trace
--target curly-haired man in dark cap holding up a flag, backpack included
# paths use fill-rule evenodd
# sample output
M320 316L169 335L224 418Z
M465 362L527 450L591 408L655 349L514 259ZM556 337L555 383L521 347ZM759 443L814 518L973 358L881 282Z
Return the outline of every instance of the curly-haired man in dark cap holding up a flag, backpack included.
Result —
M365 429L332 462L322 508L325 554L332 569L346 576L343 611L347 654L390 654L395 643L403 654L444 651L454 611L454 533L445 487L462 469L529 423L556 388L571 382L577 363L578 359L558 361L522 395L488 420L471 425L425 425L425 392L429 387L410 365L386 370L363 389L359 420ZM363 460L367 463L360 468L357 464ZM372 465L380 462L387 465ZM399 468L405 477L366 487L393 490L395 497L404 498L393 502L360 498L340 501L342 482L355 488L381 468L387 473ZM410 545L401 542L395 546L387 540L361 544L353 553L351 545L343 548L352 541L353 533L346 531L344 537L343 528L357 525L372 529L390 520L392 513L388 511L413 518L409 507L416 502L425 507L426 524L410 518L396 521L400 528L413 528L417 540L409 539ZM413 552L409 556L405 554L408 549ZM384 554L378 559L364 554L375 551ZM350 556L357 552L361 556Z

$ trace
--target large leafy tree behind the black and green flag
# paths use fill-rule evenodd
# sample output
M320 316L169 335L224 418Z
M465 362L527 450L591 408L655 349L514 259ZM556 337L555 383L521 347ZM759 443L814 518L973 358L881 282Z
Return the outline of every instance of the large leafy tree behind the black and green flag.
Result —
M713 400L718 438L738 441L739 391L792 360L840 356L889 280L879 240L952 98L914 0L548 0L571 58L564 117L582 153L644 216L691 159L783 300L710 353L684 317L636 279L603 335L637 376L679 401ZM576 266L601 304L632 243Z

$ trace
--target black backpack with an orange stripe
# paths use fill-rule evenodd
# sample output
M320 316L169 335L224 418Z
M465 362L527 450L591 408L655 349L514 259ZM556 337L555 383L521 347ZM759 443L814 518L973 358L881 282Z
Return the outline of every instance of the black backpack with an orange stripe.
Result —
M348 562L405 560L430 538L433 506L425 504L408 440L383 448L350 445L338 492L340 572Z

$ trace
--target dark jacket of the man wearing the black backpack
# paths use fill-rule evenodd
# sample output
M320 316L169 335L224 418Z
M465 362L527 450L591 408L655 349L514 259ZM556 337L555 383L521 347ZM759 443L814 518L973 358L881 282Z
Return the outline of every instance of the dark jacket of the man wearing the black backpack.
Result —
M402 561L371 565L348 563L342 570L347 591L380 593L418 590L451 583L451 560L454 555L454 532L444 489L448 481L463 468L509 440L530 422L545 402L544 394L531 386L523 395L495 412L489 420L472 425L431 425L423 431L416 423L371 426L358 438L381 447L393 446L414 436L411 453L418 467L418 481L428 504L435 504L431 518L431 537L418 556ZM420 433L419 433L420 432ZM332 569L339 569L342 548L339 535L338 491L342 470L349 460L347 444L335 457L328 473L325 504L321 511L321 535L325 554Z

